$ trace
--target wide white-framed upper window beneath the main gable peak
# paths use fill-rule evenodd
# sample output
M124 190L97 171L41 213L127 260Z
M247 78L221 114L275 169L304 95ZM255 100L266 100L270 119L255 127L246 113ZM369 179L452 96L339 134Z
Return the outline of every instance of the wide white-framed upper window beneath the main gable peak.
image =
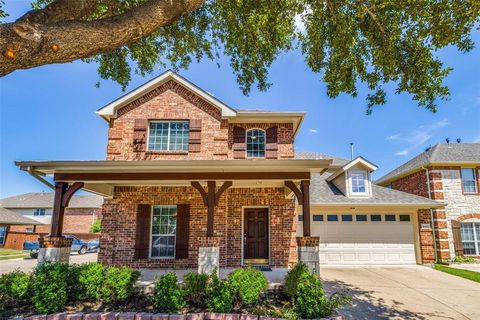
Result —
M188 151L188 121L151 121L149 151Z

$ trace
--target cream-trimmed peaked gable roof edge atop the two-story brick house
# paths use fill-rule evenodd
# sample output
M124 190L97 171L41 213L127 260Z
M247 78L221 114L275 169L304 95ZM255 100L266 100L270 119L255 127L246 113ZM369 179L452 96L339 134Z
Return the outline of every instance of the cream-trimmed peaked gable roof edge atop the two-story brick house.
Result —
M227 106L222 101L215 98L213 95L209 94L205 90L197 87L195 84L191 83L184 77L176 74L172 70L168 70L156 78L148 81L147 83L139 86L138 88L130 91L129 93L121 96L120 98L110 102L106 106L98 109L95 113L101 116L103 119L108 121L111 118L115 118L117 116L117 111L129 104L130 102L138 99L139 97L147 94L148 92L152 91L153 89L161 86L162 84L166 83L167 81L176 81L177 83L181 84L185 88L189 89L190 91L194 92L196 95L207 101L208 103L212 104L213 106L220 109L222 112L223 117L232 117L237 114L236 110Z

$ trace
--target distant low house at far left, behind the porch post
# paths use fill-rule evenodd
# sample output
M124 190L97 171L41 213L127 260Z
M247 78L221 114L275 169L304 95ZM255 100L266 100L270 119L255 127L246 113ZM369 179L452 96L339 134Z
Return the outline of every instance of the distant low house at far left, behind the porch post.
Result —
M25 193L0 199L0 207L36 221L37 225L12 226L11 231L50 232L54 193ZM75 195L65 210L65 233L88 233L92 223L101 216L103 197L98 195Z

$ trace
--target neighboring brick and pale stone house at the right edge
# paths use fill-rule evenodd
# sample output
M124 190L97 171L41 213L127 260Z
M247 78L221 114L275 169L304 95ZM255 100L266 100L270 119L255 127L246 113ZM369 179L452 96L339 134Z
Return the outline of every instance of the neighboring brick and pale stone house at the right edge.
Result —
M432 210L439 259L480 257L480 143L437 144L377 183L445 203Z

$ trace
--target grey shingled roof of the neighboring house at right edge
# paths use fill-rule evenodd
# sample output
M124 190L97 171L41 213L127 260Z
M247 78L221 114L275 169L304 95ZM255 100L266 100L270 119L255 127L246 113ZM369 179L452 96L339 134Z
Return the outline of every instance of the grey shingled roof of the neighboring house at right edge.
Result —
M376 183L390 181L422 169L427 165L480 164L480 143L439 143L379 178Z

